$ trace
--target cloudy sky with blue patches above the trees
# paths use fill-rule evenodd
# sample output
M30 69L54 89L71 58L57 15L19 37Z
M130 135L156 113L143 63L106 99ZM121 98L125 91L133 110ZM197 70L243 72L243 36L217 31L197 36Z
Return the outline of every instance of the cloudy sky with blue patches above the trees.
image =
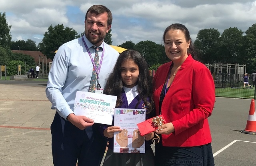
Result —
M12 25L12 41L42 41L48 27L63 24L84 31L86 11L94 4L109 8L113 15L113 45L125 41L162 43L164 29L182 23L192 40L199 30L229 27L246 31L256 23L256 0L0 0L0 12Z

